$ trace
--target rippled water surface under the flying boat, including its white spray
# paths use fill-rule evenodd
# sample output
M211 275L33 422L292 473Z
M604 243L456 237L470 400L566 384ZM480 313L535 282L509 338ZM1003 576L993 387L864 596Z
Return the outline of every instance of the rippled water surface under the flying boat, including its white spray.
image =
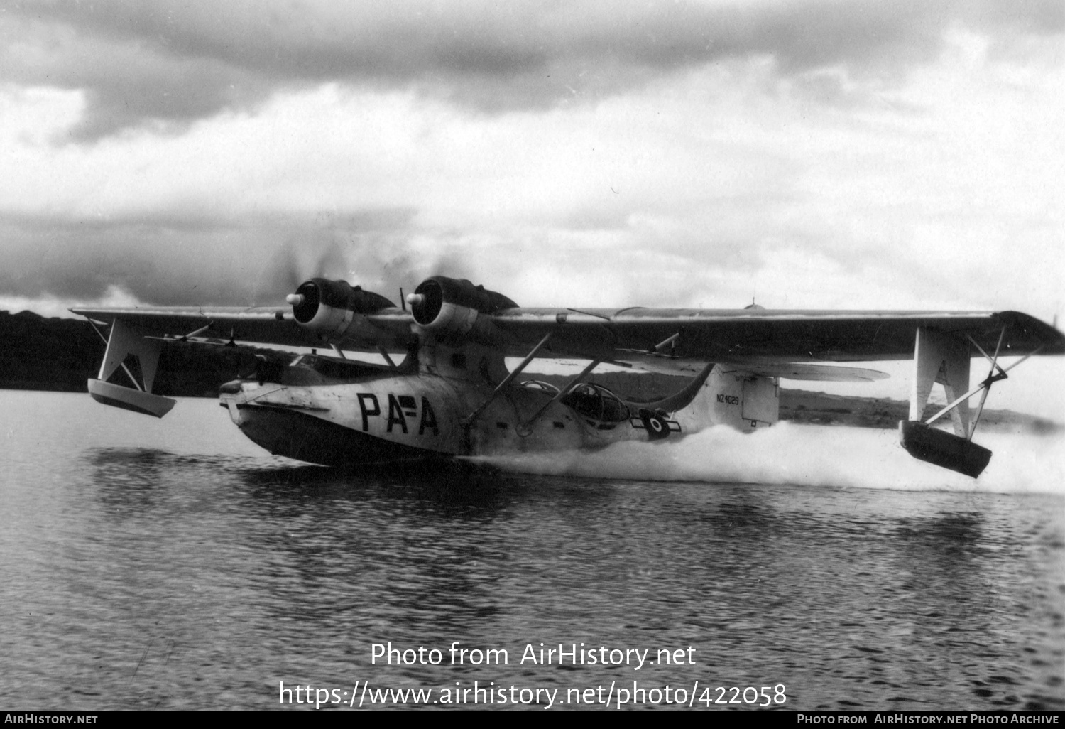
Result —
M986 482L889 433L786 425L496 464L532 475L338 473L271 457L214 401L155 421L0 391L0 411L6 707L635 680L783 683L790 709L1065 708L1060 443L988 443ZM446 665L456 641L508 664ZM444 665L371 665L388 642ZM541 643L694 664L521 664Z

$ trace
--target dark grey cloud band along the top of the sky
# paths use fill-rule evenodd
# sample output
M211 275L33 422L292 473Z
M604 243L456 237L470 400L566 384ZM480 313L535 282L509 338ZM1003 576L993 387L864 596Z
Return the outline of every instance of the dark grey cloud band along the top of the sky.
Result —
M1058 0L24 3L0 17L0 75L84 90L71 130L84 141L183 129L326 82L503 112L597 101L730 59L771 59L783 76L891 77L935 58L953 25L1005 37L1060 32L1063 16ZM830 77L817 88L839 92Z

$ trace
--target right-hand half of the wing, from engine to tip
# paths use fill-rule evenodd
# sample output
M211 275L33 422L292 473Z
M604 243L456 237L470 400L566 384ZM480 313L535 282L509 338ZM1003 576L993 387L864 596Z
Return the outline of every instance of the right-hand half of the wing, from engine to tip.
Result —
M1004 356L1065 354L1065 337L1016 311L773 311L509 309L496 326L523 342L551 331L548 350L621 361L784 363L910 359L919 328L971 338ZM980 356L971 346L972 356Z

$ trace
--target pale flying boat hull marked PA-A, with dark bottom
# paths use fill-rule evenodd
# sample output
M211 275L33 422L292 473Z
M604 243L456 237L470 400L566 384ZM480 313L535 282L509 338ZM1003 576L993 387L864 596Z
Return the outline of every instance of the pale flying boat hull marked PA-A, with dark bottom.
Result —
M768 399L772 412L757 417L776 418L771 380L756 391L750 375L717 370L672 414L623 403L595 386L588 388L592 394L556 400L540 388L494 392L484 382L426 372L312 384L302 378L306 368L289 370L288 378L298 384L234 380L223 387L222 404L271 453L325 466L594 451L625 440L677 438L712 424L751 430L757 423L750 408L758 398Z

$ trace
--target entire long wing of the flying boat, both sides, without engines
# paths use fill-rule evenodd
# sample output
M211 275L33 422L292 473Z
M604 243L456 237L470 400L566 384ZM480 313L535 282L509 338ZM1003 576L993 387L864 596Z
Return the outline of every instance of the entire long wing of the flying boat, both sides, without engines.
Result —
M261 344L344 349L405 350L417 324L407 311L390 308L355 314L340 336L324 336L296 322L290 307L75 308L73 313L103 322L121 320L146 335L183 337L200 330ZM522 357L546 335L540 358L591 358L639 369L685 371L700 362L783 365L911 359L919 328L965 341L970 356L979 347L1001 355L1065 354L1065 336L1017 311L787 311L708 309L502 309L480 314L491 322L491 344L506 356ZM207 329L202 329L207 327ZM1003 334L1004 333L1004 334ZM449 335L454 336L454 335ZM787 375L783 375L787 376Z

